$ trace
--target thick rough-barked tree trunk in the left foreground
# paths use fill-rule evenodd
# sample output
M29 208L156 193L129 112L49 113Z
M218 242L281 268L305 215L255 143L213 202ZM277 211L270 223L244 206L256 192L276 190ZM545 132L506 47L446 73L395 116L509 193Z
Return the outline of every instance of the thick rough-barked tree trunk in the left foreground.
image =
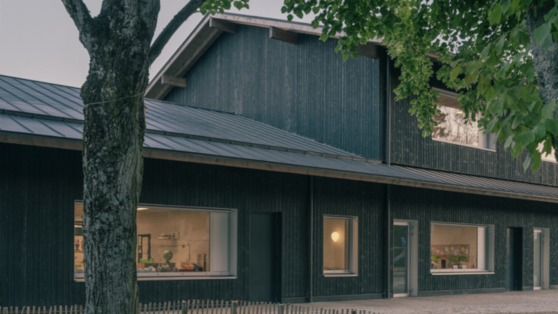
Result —
M88 36L84 101L86 313L139 313L136 212L142 186L143 95L158 1L113 1ZM81 32L80 32L81 33Z

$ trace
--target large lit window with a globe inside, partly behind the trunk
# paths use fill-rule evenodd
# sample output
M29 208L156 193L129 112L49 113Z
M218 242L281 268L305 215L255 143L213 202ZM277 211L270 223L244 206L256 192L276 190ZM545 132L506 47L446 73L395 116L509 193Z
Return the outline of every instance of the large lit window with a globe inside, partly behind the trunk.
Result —
M83 278L83 205L75 204L74 274ZM236 210L140 205L137 209L139 279L234 276Z

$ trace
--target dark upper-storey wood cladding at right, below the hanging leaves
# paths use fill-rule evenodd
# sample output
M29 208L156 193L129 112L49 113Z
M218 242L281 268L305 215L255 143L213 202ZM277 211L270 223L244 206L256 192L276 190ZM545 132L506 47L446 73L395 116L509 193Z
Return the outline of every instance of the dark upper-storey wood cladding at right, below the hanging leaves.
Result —
M399 73L393 68L391 91L398 84ZM440 86L439 86L440 87ZM395 101L391 94L391 162L449 172L474 174L513 181L526 181L557 186L558 164L543 161L541 169L533 173L523 171L525 155L511 158L503 143L496 151L466 147L459 144L432 140L422 136L416 117L409 114L410 100Z

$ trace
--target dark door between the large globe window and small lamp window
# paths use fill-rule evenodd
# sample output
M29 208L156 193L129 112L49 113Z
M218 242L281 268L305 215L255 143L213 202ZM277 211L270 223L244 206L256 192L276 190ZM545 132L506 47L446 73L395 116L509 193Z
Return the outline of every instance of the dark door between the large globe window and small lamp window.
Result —
M250 301L280 301L281 216L250 214Z

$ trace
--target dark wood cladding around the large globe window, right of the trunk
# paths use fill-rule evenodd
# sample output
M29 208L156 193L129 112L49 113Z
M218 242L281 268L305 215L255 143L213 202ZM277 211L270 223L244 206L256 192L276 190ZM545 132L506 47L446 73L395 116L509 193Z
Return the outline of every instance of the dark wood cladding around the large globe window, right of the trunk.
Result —
M140 281L140 299L248 299L249 215L282 213L281 297L308 290L308 177L146 159L140 202L238 209L237 279Z

